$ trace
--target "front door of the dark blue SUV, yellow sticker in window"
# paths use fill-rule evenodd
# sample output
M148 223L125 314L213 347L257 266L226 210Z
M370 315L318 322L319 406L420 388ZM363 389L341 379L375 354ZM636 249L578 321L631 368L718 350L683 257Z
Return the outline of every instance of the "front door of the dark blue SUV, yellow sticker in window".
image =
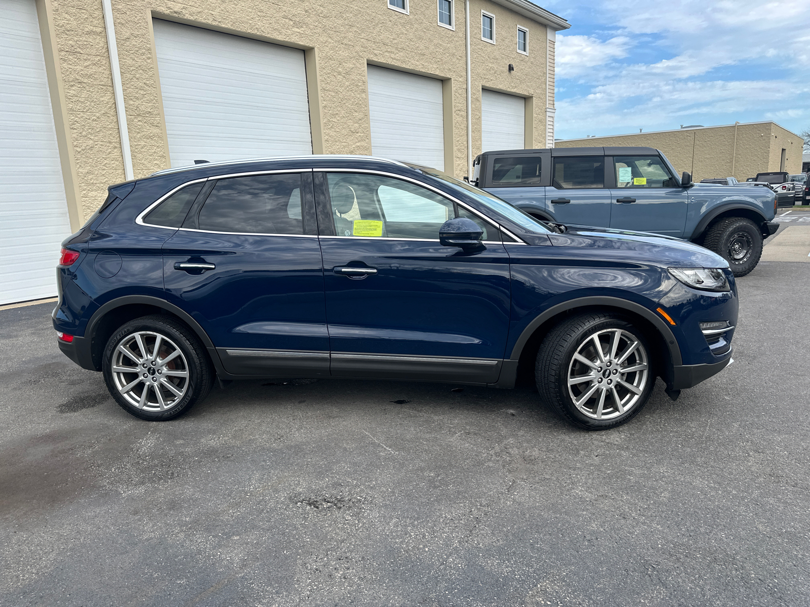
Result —
M315 172L333 376L497 381L509 257L497 227L410 180ZM439 244L468 217L484 246Z

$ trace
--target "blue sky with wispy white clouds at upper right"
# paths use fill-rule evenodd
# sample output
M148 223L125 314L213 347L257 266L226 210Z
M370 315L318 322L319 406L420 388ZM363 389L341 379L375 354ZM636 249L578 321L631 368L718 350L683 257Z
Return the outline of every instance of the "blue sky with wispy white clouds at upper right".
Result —
M557 33L557 138L810 128L810 0L535 2L572 23Z

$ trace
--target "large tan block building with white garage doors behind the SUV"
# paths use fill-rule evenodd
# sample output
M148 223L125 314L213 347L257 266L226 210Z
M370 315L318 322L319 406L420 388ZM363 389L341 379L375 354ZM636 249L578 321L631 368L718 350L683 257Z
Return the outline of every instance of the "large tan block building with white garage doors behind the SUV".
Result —
M569 28L528 0L0 11L0 304L54 295L59 242L107 186L163 168L373 154L464 176L484 148L552 146L555 34Z

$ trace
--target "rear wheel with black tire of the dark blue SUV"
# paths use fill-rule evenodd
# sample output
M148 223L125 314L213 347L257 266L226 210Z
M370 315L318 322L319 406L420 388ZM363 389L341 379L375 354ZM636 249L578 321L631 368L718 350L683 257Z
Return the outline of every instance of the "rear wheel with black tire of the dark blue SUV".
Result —
M130 320L113 333L104 348L102 371L115 401L127 413L152 422L176 418L202 401L215 377L197 336L179 320L160 315Z

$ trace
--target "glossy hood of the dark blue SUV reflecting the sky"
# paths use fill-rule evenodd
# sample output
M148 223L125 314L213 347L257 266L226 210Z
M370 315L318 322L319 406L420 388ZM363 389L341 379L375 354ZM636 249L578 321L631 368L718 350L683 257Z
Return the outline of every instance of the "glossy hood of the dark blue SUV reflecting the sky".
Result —
M728 261L697 244L646 231L566 224L564 234L549 234L556 247L590 249L595 257L612 261L636 261L667 267L727 268Z

